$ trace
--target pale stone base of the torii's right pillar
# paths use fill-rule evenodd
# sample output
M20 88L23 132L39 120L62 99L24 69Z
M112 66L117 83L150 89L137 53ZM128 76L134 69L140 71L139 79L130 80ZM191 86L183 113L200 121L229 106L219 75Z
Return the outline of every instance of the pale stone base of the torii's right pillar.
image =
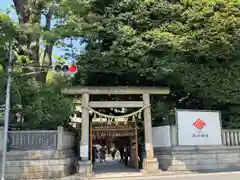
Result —
M157 158L144 158L142 170L143 173L159 173L161 170L159 169L158 159Z

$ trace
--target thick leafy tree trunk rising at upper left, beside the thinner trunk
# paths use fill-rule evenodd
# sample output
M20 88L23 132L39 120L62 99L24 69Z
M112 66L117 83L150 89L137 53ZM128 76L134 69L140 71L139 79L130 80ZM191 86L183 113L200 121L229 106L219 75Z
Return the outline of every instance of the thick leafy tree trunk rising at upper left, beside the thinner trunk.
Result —
M20 26L17 54L29 58L31 64L40 66L41 13L46 3L41 0L13 0L13 3ZM26 63L25 59L22 63Z

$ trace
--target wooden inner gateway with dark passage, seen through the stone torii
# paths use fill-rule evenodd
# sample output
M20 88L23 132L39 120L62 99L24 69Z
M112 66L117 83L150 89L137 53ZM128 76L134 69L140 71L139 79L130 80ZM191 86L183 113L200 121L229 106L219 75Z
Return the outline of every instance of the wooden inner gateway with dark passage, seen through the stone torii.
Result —
M105 118L102 118L105 119ZM134 173L138 169L138 140L136 122L98 122L92 120L90 128L91 141L91 161L93 163L93 173L96 177L106 173ZM127 146L129 149L128 165L121 160L120 151ZM95 147L95 149L93 149ZM100 153L100 148L105 148L105 161L101 162L96 157L96 150ZM112 156L112 148L115 149ZM93 154L93 151L95 153ZM95 156L95 157L94 157ZM123 158L125 158L123 156Z

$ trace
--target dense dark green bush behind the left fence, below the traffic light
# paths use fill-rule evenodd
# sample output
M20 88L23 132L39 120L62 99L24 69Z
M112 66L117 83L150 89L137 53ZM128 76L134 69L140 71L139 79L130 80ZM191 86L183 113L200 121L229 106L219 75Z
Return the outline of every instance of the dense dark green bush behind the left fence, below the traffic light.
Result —
M39 83L34 78L14 76L11 93L12 114L19 112L23 121L17 122L11 117L11 124L20 129L56 129L67 126L73 111L72 99L61 93L67 86L62 78L56 81ZM21 105L21 107L19 107Z

